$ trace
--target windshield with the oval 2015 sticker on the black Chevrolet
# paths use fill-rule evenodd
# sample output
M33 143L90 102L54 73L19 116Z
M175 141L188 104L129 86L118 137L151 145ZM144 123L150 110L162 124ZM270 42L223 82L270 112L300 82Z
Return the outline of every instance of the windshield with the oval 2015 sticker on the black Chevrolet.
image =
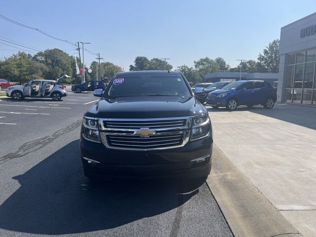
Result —
M117 76L108 86L105 97L191 96L181 75Z

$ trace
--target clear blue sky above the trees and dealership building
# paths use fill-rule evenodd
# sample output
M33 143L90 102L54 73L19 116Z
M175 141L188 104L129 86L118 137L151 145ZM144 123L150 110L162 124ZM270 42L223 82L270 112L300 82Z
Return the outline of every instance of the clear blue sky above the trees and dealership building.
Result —
M173 69L220 56L235 67L237 59L257 59L279 39L282 26L315 9L316 0L1 0L0 14L58 38L91 42L88 50L127 71L136 56L171 58ZM76 52L2 19L0 36L41 50ZM0 45L0 58L18 50ZM86 63L95 58L84 56Z

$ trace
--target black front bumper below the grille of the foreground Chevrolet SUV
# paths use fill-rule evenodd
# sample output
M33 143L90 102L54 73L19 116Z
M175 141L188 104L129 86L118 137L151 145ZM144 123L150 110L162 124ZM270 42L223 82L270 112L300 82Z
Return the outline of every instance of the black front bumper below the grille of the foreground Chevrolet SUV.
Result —
M155 151L107 149L102 143L80 138L84 173L88 177L96 178L190 179L203 177L210 173L212 150L212 136L189 142L181 148ZM192 161L201 157L205 157L205 160Z

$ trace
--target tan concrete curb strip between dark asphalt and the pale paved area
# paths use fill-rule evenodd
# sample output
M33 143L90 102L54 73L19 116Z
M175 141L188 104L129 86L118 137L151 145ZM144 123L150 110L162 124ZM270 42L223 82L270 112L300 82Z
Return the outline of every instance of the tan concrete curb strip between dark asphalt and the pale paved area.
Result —
M216 146L206 182L235 237L302 237Z

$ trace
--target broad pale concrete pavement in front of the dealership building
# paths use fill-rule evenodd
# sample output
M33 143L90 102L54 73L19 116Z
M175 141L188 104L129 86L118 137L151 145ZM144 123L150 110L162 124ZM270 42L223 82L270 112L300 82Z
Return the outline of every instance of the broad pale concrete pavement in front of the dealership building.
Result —
M315 237L316 107L209 112L216 146L302 236Z

